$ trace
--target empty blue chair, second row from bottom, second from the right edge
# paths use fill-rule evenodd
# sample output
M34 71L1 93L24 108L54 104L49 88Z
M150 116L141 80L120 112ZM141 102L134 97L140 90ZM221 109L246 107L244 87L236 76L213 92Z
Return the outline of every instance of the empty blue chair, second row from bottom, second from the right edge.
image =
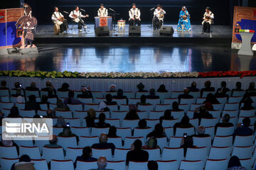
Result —
M211 147L208 159L229 159L230 151L230 147Z

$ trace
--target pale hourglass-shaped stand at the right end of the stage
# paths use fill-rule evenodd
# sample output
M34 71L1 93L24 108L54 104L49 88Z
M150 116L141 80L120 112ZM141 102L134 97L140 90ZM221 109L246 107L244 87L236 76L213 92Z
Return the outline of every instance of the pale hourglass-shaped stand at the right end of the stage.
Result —
M242 46L238 51L238 55L253 55L252 47L251 47L251 40L254 33L241 33L242 37Z

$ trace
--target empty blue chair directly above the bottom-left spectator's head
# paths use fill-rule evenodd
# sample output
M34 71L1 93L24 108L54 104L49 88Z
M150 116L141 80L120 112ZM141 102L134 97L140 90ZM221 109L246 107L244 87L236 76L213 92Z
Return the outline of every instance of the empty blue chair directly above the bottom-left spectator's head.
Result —
M19 146L19 155L27 154L31 159L41 159L39 147L23 147Z

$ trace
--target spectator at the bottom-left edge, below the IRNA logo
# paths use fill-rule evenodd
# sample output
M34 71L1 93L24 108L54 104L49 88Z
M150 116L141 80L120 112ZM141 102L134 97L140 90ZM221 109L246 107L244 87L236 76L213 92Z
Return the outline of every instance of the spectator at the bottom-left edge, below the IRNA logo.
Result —
M18 162L11 166L11 170L36 170L34 163L31 162L31 158L27 154L23 154Z

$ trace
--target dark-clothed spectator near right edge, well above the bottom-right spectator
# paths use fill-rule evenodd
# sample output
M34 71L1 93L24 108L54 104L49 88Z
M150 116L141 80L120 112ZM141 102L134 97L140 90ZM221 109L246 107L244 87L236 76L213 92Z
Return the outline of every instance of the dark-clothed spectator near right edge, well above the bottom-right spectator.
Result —
M249 136L252 135L253 130L249 128L250 126L250 118L244 118L242 123L238 124L238 128L235 130L233 137L238 136Z

